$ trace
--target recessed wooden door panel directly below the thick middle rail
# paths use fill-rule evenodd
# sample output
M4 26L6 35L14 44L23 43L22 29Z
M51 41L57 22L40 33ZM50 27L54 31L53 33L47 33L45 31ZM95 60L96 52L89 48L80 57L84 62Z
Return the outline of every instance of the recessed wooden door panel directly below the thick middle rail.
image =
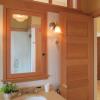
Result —
M88 79L87 65L81 64L81 65L67 66L68 83L70 83L70 81L79 81L84 79Z

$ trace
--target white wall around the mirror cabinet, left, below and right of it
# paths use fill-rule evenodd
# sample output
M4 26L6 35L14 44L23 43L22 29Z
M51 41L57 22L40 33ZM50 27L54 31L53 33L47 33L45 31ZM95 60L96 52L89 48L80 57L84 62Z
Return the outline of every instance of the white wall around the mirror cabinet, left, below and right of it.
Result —
M48 22L58 21L59 16L56 13L48 13ZM48 25L49 25L48 23ZM0 6L0 80L3 77L3 63L2 63L2 33L3 33L3 7ZM48 80L39 80L33 82L18 83L19 86L38 86L44 85L46 82L53 84L57 87L60 84L60 50L55 41L57 36L48 32L48 74L50 75Z

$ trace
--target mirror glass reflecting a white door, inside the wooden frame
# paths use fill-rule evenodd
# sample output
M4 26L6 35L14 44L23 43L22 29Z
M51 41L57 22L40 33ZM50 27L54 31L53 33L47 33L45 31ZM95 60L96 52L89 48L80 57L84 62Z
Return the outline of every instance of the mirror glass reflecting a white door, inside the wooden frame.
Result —
M11 74L36 72L41 49L41 17L13 14Z

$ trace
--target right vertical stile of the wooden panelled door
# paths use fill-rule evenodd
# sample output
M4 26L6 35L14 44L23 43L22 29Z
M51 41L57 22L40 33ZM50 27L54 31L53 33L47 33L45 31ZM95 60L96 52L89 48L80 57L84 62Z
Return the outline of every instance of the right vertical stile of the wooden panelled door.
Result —
M94 22L92 17L89 17L88 26L89 100L94 100Z

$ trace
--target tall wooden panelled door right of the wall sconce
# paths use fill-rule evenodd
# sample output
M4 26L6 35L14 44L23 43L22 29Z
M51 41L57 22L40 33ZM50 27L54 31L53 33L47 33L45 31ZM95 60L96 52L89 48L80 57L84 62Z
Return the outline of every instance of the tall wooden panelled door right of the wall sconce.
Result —
M61 84L67 100L93 100L93 19L61 13Z

